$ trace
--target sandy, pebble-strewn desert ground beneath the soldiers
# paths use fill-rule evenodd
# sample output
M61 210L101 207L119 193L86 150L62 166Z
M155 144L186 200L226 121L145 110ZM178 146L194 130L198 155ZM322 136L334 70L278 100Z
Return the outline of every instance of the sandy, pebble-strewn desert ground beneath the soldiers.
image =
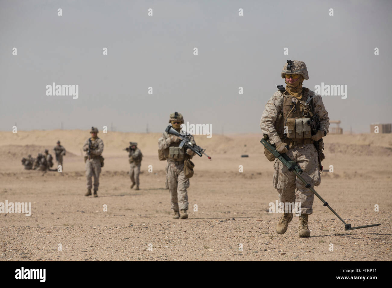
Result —
M392 259L392 134L327 135L323 166L333 165L334 172L324 172L316 188L352 226L381 226L345 231L315 197L311 237L305 239L298 237L296 217L285 234L276 234L280 215L268 208L278 194L272 187L273 163L259 142L261 134L195 136L212 161L194 158L186 220L171 216L165 161L157 156L160 134L98 136L105 144L105 166L99 197L92 198L83 196L80 151L88 130L0 132L0 202L31 202L32 209L30 217L0 214L2 261ZM58 139L67 149L62 173L24 170L22 157L52 149ZM122 151L129 141L138 142L144 155L139 191L129 188L127 152ZM239 165L243 173L238 172Z

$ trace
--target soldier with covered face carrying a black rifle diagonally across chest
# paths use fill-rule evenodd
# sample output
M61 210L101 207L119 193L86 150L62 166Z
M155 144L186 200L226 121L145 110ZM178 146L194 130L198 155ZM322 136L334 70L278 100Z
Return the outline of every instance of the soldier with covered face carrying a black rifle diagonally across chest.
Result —
M183 116L174 112L170 114L169 123L180 132L180 125L184 123ZM191 142L196 144L193 136L191 136ZM179 148L179 145L180 138L167 132L163 132L158 139L158 149L166 150L168 154L166 176L170 191L171 208L174 210L173 219L187 219L189 178L185 177L184 174L184 159L185 157L191 159L194 152L190 149L184 152L184 148Z

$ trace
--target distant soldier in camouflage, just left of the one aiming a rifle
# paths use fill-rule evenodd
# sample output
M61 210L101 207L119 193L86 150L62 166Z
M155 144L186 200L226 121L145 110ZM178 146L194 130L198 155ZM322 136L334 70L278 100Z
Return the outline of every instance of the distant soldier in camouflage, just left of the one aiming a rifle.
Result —
M91 188L93 188L91 178L94 177L94 197L98 197L97 191L99 186L99 174L101 173L101 154L103 152L103 141L98 138L98 129L91 127L91 137L87 139L83 145L83 151L86 152L84 156L86 161L86 178L87 178L87 193L84 196L91 195ZM91 144L89 147L89 140ZM90 152L90 153L89 153Z

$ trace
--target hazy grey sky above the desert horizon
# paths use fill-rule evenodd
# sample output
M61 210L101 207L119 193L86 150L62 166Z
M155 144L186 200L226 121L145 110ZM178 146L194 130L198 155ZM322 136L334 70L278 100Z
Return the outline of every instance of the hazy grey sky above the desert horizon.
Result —
M368 132L392 122L391 12L390 0L1 0L0 130L161 132L178 111L213 133L261 133L290 59L306 63L304 87L347 85L347 99L323 96L329 117ZM47 96L52 82L79 85L78 99Z

